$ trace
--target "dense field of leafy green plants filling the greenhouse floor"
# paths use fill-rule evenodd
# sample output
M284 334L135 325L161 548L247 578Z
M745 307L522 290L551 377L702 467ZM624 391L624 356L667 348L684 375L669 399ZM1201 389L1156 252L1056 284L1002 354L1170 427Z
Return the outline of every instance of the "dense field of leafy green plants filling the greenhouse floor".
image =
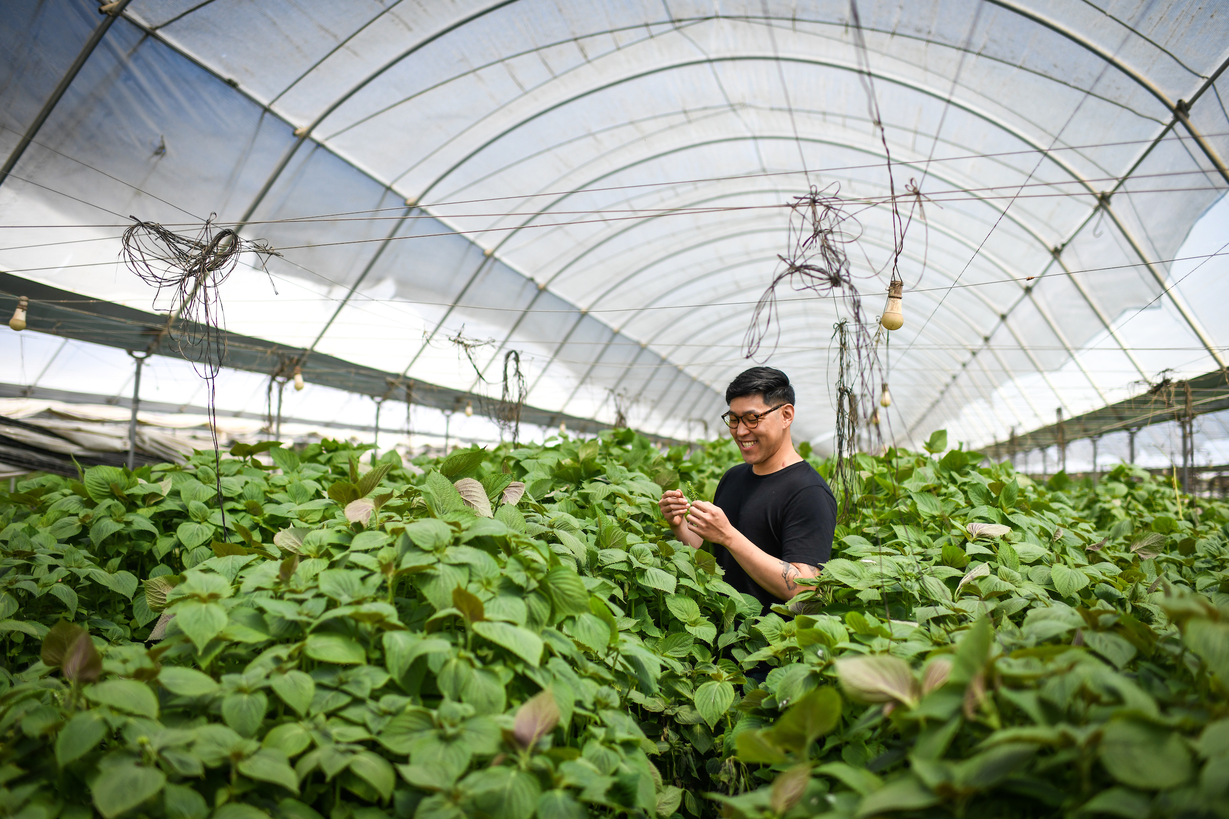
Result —
M1229 817L1223 503L939 432L857 456L762 613L658 510L740 460L617 430L20 481L0 815Z

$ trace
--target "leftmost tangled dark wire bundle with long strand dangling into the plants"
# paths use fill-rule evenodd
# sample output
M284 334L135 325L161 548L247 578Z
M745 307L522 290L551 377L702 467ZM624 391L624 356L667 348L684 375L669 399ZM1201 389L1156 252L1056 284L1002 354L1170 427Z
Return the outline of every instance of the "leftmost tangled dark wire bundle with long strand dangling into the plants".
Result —
M216 459L220 457L216 378L226 357L225 316L218 290L235 270L241 254L256 253L263 266L269 257L280 253L263 241L241 238L230 228L218 230L215 217L216 214L210 214L197 236L188 237L157 222L129 216L134 223L124 231L122 257L141 281L157 289L154 309L167 314L166 324L159 329L147 351L152 352L170 336L179 355L205 379L209 431ZM170 303L160 309L159 301L166 295ZM215 472L221 503L221 473L220 469ZM225 517L222 519L225 532Z

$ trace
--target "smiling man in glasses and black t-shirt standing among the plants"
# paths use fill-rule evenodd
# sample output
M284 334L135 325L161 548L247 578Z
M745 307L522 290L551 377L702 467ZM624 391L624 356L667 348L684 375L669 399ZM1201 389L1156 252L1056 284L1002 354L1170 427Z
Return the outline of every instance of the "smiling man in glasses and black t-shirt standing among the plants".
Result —
M767 613L798 593L796 578L816 577L828 560L837 502L794 449L794 388L785 373L752 367L730 382L725 403L721 419L746 463L721 476L712 503L688 503L671 490L661 496L661 513L693 549L705 540L721 546L714 551L725 581Z

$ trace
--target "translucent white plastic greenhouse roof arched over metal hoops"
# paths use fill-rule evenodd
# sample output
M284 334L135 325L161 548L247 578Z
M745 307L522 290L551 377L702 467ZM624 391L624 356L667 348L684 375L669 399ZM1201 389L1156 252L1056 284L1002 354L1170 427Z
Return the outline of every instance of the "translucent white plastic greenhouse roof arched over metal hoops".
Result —
M988 442L1225 365L1193 286L1224 248L1174 259L1229 188L1229 2L857 7L865 49L847 2L134 0L0 187L0 269L149 309L128 216L215 212L284 257L231 276L230 330L495 394L515 349L527 403L691 437L750 366L782 204L882 201L886 140L924 203L884 351L895 437ZM0 156L101 20L6 11ZM859 221L878 316L891 212ZM767 359L820 448L839 309L783 293ZM492 340L476 366L458 333Z

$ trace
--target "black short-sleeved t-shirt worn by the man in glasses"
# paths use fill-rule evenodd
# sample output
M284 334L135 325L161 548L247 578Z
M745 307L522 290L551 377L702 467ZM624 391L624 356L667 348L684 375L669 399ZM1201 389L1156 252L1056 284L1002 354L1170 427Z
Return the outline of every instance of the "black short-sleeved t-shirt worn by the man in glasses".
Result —
M777 560L821 566L832 555L837 501L827 481L801 460L767 475L739 464L721 476L713 502L742 535ZM768 607L780 603L744 571L730 551L713 544L725 582Z

